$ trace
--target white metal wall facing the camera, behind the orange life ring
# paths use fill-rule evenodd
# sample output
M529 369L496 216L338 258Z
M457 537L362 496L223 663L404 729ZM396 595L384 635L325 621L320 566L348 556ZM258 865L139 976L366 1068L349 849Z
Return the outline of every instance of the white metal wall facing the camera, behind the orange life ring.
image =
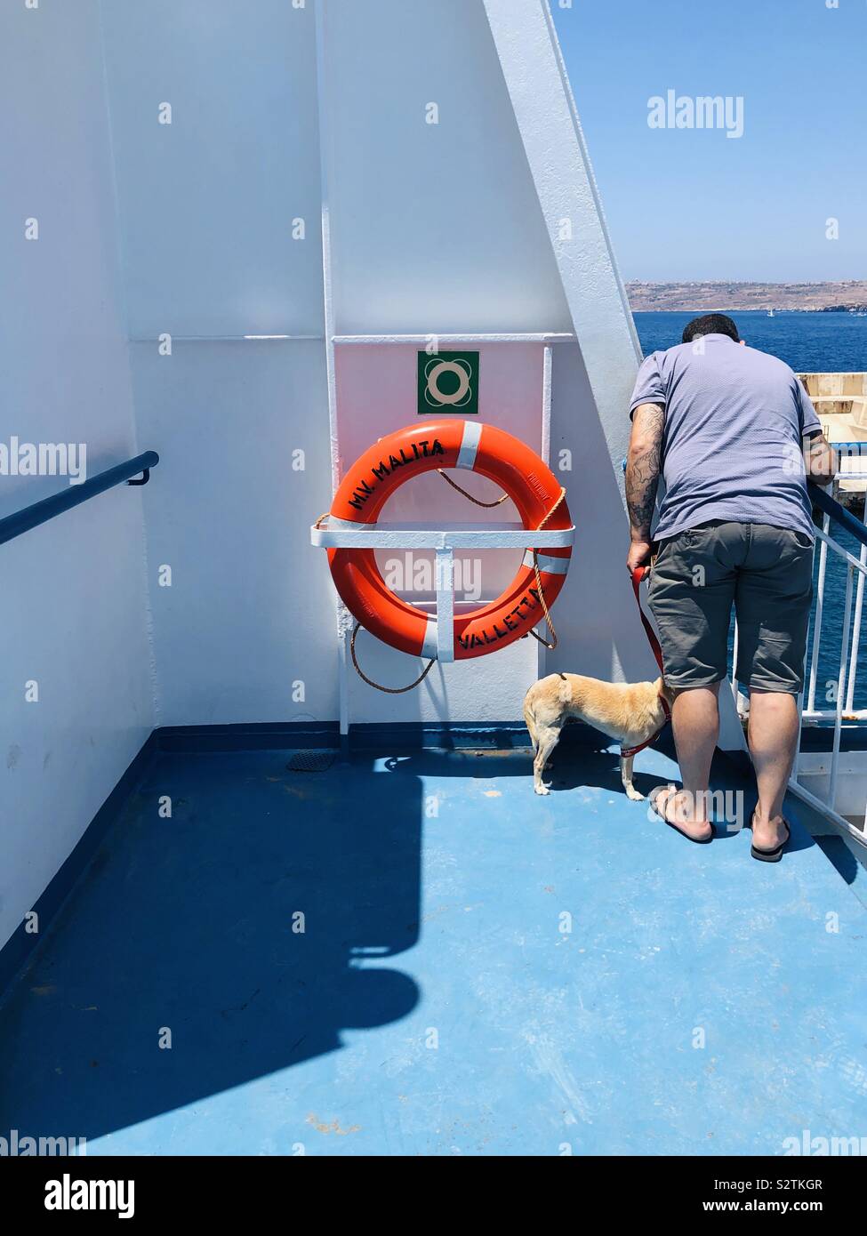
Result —
M427 0L103 7L136 417L141 441L163 456L145 493L157 718L334 719L334 593L307 529L329 506L329 451L336 473L338 456L345 465L390 418L364 379L329 387L331 336L364 335L376 347L393 332L464 332L476 347L479 334L571 331L553 224L485 6L438 0L435 20ZM162 104L171 124L158 122ZM303 239L293 239L298 220ZM604 290L616 300L607 274ZM171 355L161 355L164 334ZM293 337L244 337L260 334ZM622 307L612 355L625 370L620 391L634 368ZM406 420L414 399L409 382ZM554 399L560 433L578 447L566 483L589 487L594 502L605 489L613 514L617 480L590 388L568 379ZM527 409L532 440L539 403ZM503 417L519 431L515 409ZM587 459L591 439L601 476ZM299 450L304 470L294 471ZM468 517L450 492L437 512ZM166 566L171 587L161 586ZM564 609L566 630L597 635L592 658L571 640L559 655L617 670L607 602L586 622ZM417 672L372 640L361 653L382 681ZM538 665L524 640L438 667L409 696L380 696L352 679L350 719L517 718Z

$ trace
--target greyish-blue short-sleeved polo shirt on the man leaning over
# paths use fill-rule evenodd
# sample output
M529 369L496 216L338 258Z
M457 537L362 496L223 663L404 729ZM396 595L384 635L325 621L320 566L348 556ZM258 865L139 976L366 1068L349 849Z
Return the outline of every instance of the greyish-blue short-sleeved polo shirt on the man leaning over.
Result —
M803 439L821 424L788 365L704 335L647 357L630 417L641 403L665 408L657 539L709 519L813 536Z

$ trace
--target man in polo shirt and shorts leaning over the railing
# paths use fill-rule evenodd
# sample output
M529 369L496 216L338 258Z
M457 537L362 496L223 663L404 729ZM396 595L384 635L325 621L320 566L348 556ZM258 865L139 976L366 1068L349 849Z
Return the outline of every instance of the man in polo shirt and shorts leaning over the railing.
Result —
M683 776L683 790L663 786L653 805L691 840L711 839L707 786L733 603L736 676L750 688L758 781L752 853L777 861L788 842L782 807L798 742L813 597L806 478L827 485L837 460L798 377L746 347L724 314L696 318L681 345L647 357L631 417L627 566L651 561L662 477L648 599L665 682L675 691L672 723Z

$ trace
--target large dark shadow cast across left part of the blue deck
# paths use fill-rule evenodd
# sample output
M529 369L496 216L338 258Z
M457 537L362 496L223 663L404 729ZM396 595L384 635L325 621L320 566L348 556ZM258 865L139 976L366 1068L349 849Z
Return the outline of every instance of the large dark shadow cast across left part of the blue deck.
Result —
M0 1127L94 1140L412 1011L421 782L287 756L158 758L0 1010Z

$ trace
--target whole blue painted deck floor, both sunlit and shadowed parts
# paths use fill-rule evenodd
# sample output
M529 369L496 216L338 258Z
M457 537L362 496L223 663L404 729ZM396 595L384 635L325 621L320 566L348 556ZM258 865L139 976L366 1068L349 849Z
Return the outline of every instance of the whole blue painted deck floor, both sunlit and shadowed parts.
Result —
M559 755L547 798L526 753L158 755L0 1014L0 1130L90 1154L867 1135L867 910L822 849L691 845L613 754Z

